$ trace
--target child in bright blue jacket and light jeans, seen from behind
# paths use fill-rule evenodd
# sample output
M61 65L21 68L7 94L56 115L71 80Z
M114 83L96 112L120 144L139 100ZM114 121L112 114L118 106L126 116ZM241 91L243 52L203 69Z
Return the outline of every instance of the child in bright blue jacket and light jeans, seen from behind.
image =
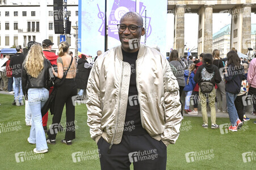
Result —
M196 86L196 83L194 81L194 76L195 76L194 71L195 71L195 63L191 63L190 66L188 67L188 70L185 70L185 73L184 73L185 83L186 83L186 86L184 87L184 92L186 94L184 111L187 114L189 112L192 112L190 110L190 96L192 94L194 87Z

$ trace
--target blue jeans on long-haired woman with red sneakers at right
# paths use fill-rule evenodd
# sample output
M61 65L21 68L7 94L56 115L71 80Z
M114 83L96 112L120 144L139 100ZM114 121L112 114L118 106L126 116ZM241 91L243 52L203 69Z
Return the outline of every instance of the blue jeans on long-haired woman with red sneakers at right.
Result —
M226 104L228 105L228 114L232 126L236 126L236 121L239 118L236 106L234 105L236 97L237 94L230 94L229 92L226 92Z

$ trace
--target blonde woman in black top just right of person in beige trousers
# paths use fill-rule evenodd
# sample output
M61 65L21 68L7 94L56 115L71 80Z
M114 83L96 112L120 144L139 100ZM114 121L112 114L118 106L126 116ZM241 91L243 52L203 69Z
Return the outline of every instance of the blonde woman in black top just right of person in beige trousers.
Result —
M221 60L220 58L220 51L215 49L212 52L212 56L213 56L213 65L217 66L218 69L220 70L220 76L221 76L221 82L217 83L217 90L220 91L220 96L221 99L217 99L217 101L221 101L222 100L222 112L226 113L226 91L225 91L225 82L224 82L224 62ZM215 104L216 110L218 112L220 112L219 109L217 109L217 103Z

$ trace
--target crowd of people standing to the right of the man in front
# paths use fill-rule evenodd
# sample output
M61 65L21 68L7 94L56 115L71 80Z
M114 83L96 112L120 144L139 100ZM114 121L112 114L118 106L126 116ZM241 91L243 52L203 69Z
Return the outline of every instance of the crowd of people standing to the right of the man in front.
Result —
M229 130L231 131L237 131L243 121L250 120L245 116L246 100L253 99L251 114L256 114L255 59L239 58L234 48L230 50L226 58L220 58L219 50L215 49L212 54L200 54L200 59L194 59L192 56L180 58L178 51L173 50L170 53L169 63L177 70L174 75L179 83L179 95L182 95L182 91L186 95L184 112L197 115L200 103L203 128L208 128L207 105L211 109L211 128L219 128L216 124L216 112L221 112L217 107L218 101L222 103L222 112L229 114L231 122ZM220 92L219 98L216 97L217 90ZM193 111L189 108L190 99L194 100Z

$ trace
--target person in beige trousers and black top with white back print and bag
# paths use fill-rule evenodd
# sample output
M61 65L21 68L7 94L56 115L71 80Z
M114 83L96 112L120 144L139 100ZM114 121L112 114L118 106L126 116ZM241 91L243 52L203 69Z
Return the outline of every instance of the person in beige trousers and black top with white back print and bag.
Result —
M203 57L203 65L198 67L194 80L199 84L199 97L201 101L203 128L208 128L207 116L207 100L211 108L211 128L218 129L219 125L216 124L216 109L215 109L215 83L221 82L220 71L217 66L212 64L212 54L205 54Z

